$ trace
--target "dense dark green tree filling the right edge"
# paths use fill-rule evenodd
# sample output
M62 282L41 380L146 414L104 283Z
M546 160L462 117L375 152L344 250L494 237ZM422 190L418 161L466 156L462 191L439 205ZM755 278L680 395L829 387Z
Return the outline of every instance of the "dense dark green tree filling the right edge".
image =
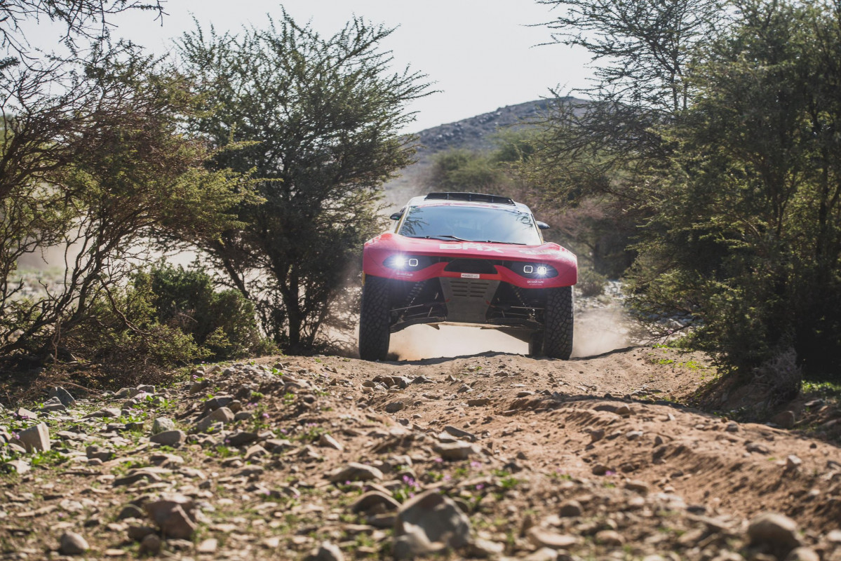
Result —
M841 364L841 6L746 0L694 71L639 300L690 304L697 340L745 370L794 349ZM666 274L656 274L660 271ZM780 388L796 391L799 379Z

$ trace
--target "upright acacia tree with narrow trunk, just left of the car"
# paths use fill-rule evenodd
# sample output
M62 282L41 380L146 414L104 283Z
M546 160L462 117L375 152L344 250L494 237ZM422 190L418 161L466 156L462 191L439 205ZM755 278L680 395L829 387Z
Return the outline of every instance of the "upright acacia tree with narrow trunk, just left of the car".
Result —
M392 72L379 49L392 29L353 19L322 37L283 13L267 29L185 34L181 55L208 114L191 130L222 152L220 168L253 170L262 204L242 204L246 227L206 249L257 303L262 325L288 349L312 347L346 269L378 225L380 185L414 153L399 130L422 76Z

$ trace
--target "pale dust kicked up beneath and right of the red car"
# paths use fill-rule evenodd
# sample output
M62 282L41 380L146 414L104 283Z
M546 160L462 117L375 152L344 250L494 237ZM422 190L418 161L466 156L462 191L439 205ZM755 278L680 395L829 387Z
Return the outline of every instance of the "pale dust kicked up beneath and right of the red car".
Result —
M591 357L627 347L629 320L619 305L576 311L573 357ZM398 360L461 357L481 352L526 354L528 344L492 329L442 325L413 325L391 336L390 350Z

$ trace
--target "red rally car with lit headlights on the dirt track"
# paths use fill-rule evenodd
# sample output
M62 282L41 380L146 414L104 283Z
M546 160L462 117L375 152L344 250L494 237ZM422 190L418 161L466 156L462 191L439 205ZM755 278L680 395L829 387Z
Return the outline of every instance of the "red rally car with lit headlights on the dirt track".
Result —
M525 204L480 193L429 193L391 215L365 244L359 355L383 360L410 325L481 325L528 341L529 354L569 358L574 254L543 241Z

